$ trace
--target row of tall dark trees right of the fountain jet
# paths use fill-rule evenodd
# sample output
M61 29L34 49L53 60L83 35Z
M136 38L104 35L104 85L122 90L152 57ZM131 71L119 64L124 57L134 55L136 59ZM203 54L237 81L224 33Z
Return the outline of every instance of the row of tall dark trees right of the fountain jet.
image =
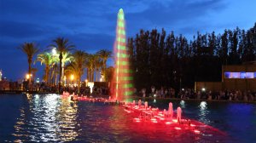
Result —
M221 81L222 65L255 60L256 23L247 31L237 27L218 35L197 32L192 40L164 29L141 30L128 38L127 47L137 89L194 88L195 81Z

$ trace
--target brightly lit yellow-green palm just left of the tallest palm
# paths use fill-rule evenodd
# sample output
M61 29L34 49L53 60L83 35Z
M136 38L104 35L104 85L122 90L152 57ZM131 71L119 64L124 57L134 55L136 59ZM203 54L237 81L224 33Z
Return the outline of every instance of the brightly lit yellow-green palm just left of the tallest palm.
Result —
M50 54L48 52L44 52L42 54L38 54L38 57L37 57L36 61L41 62L41 65L42 64L45 65L45 68L44 68L44 81L45 81L45 83L49 83L49 70L50 70L50 66L52 66L55 62L58 61L57 57L53 56L52 54Z

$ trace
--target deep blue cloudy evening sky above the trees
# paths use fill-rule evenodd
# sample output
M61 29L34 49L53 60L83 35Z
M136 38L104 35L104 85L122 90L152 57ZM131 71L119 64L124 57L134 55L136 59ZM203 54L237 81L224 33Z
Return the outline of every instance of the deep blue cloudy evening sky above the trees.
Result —
M17 49L25 42L45 49L55 37L67 37L88 53L112 50L120 8L129 37L165 28L191 38L197 31L247 30L256 22L255 6L255 0L0 0L0 69L12 80L25 77L26 54ZM36 67L41 78L44 66Z

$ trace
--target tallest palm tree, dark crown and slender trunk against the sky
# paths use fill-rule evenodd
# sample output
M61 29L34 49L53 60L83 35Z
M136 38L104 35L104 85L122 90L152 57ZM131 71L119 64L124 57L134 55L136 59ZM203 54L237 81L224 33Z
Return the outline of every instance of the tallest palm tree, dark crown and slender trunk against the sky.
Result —
M62 77L62 59L63 59L63 54L65 52L71 51L74 49L74 45L71 44L68 39L65 39L64 37L57 37L55 40L53 40L54 44L51 44L51 47L55 47L57 51L59 52L59 60L60 60L60 77L59 77L59 91L61 88L61 77Z

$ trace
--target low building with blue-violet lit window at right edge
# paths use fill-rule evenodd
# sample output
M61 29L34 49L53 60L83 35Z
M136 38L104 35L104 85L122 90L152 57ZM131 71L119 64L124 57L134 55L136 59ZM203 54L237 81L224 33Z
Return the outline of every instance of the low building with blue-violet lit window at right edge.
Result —
M256 91L256 65L222 66L221 82L195 82L195 90L212 91L240 89Z

